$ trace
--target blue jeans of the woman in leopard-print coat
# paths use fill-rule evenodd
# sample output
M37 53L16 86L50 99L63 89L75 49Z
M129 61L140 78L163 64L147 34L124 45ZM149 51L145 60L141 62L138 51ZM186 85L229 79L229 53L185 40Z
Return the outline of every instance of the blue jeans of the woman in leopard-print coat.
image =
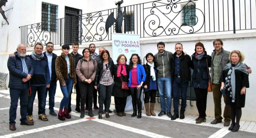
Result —
M62 86L62 84L60 84L60 89L63 94L63 98L60 102L60 109L63 109L64 107L68 108L69 96L73 86L73 78L70 78L69 74L68 79L65 79L65 83L66 86Z

